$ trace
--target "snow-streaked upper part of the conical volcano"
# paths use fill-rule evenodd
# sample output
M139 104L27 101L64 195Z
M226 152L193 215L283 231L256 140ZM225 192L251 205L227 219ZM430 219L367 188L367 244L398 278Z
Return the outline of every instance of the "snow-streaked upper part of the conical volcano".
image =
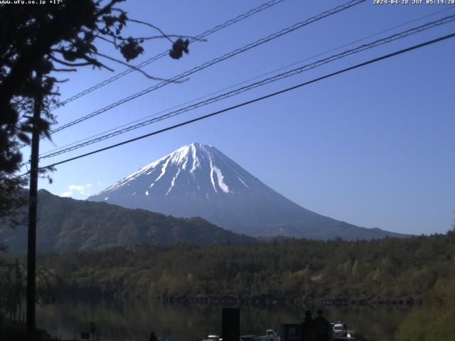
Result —
M145 197L196 193L210 199L213 195L238 195L250 190L255 182L256 178L218 149L193 142L140 168L103 190L100 195L107 197L107 193L122 190L144 193Z

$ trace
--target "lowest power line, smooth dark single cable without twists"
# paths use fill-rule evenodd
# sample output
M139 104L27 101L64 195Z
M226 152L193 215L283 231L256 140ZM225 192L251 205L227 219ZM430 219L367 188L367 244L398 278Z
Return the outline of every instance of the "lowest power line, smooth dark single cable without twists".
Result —
M413 45L410 48L405 48L405 49L402 49L402 50L395 51L393 53L389 53L387 55L382 55L381 57L370 59L370 60L368 60L366 62L357 64L357 65L353 65L351 67L346 67L343 70L338 70L338 71L332 72L332 73L330 73L328 75L324 75L324 76L315 78L314 80L309 80L307 82L300 83L299 85L294 85L293 87L287 87L284 90L279 90L277 92L272 92L272 93L266 94L266 95L264 95L262 97L257 97L255 99L251 99L250 101L242 102L242 103L236 104L236 105L234 105L232 107L228 107L228 108L225 108L225 109L218 110L217 112L212 112L210 114L207 114L207 115L204 115L204 116L201 116L201 117L197 117L196 119L191 119L191 120L188 120L188 121L184 121L182 123L175 124L173 126L168 126L167 128L164 128L164 129L153 131L153 132L151 132L149 134L145 134L145 135L141 135L141 136L135 137L134 139L129 139L127 141L122 141L122 142L120 142L118 144L112 144L111 146L107 146L105 148L100 148L100 149L97 149L96 151L91 151L89 153L85 153L85 154L82 154L82 155L79 155L79 156L75 156L73 158L68 158L66 160L53 163L53 164L48 165L48 166L41 167L40 170L43 170L43 169L46 169L46 168L50 168L50 167L55 167L55 166L61 165L63 163L68 163L70 161L77 160L78 158L84 158L85 156L90 156L90 155L95 154L95 153L100 153L101 151L107 151L108 149L115 148L115 147L118 147L118 146L122 146L124 144L129 144L131 142L134 142L134 141L137 141L137 140L140 140L140 139L145 139L146 137L153 136L153 135L156 135L156 134L161 134L161 133L163 133L165 131L169 131L171 129L176 129L176 128L180 127L180 126L186 126L186 125L194 123L196 121L207 119L209 117L213 117L213 116L221 114L223 112L229 112L230 110L237 109L237 108L240 108L240 107L244 107L245 105L252 104L252 103L255 103L255 102L259 102L259 101L262 101L263 99L267 99L269 97L274 97L274 96L277 96L278 94L283 94L284 92L295 90L295 89L297 89L299 87L304 87L304 86L310 85L310 84L312 84L314 82L319 82L320 80L324 80L326 78L333 77L335 75L339 75L341 73L357 69L358 67L363 67L365 65L373 64L373 63L376 63L376 62L378 62L380 60L385 60L385 59L391 58L391 57L393 57L395 55L400 55L402 53L407 53L407 52L410 52L412 50L417 50L418 48L422 48L422 47L427 46L427 45L432 45L432 44L438 43L438 42L440 42L442 40L446 40L446 39L454 38L454 37L455 37L455 33L451 33L449 35L441 36L441 37L433 39L433 40L427 40L424 43L420 43L418 45ZM23 173L22 175L19 175L19 176L23 176L23 175L26 175L26 174L28 174L28 173Z

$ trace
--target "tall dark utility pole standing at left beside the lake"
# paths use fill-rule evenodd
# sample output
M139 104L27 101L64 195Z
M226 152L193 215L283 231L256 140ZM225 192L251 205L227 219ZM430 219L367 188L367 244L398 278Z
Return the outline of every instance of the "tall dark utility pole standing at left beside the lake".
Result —
M36 301L36 206L38 204L38 155L40 131L38 120L41 116L43 75L36 72L36 96L33 105L33 133L31 137L30 193L28 197L28 247L27 247L27 334L28 340L35 339L35 301Z

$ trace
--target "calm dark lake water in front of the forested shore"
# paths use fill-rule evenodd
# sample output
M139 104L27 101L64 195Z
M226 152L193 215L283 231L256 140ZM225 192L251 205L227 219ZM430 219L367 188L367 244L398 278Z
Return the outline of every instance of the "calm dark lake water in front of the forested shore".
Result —
M242 307L241 334L264 335L265 330L279 330L281 323L300 323L304 307ZM318 308L311 310L316 313ZM410 312L398 307L323 308L331 321L343 320L349 329L357 330L367 340L392 340L395 330ZM80 332L97 325L102 341L149 340L171 336L176 341L196 341L210 333L221 332L221 307L205 305L164 305L138 299L65 300L46 308L37 308L37 325L53 337L79 339Z

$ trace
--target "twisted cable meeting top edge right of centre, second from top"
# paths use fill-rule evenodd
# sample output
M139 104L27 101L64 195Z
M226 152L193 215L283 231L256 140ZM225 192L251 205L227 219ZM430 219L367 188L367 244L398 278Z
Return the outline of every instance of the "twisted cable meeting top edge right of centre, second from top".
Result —
M326 18L328 16L332 16L335 13L344 11L346 9L349 9L350 7L353 7L355 5L361 4L363 2L365 2L365 0L351 0L351 1L348 1L346 4L342 4L340 6L336 6L335 8L330 9L328 11L325 11L325 12L323 12L323 13L317 15L317 16L313 16L313 17L311 17L309 19L306 19L306 21L301 21L300 23L295 23L293 26L289 26L288 28L284 28L282 31L279 31L277 33L273 33L273 34L271 34L271 35L269 35L269 36L267 36L265 38L256 40L254 43L250 43L248 45L245 45L242 48L237 48L237 50L234 50L234 51L232 51L230 53L226 53L225 55L222 55L221 57L218 57L218 58L215 58L213 60L210 60L209 62L206 62L206 63L204 63L202 65L199 65L197 67L193 67L193 69L187 70L186 72L183 72L180 75L176 75L176 76L172 77L170 80L165 80L163 82L159 82L157 85L148 87L148 88L146 88L146 89L144 89L144 90L142 90L140 92L137 92L135 94L130 95L129 97L125 97L124 99L120 99L117 102L109 104L106 107L103 107L102 109L98 109L97 111L92 112L91 114L87 114L84 117L80 117L79 119L76 119L75 121L71 121L68 124L64 124L63 126L60 126L60 127L56 128L56 129L53 129L52 131L49 132L49 134L55 134L58 131L66 129L66 128L70 127L70 126L74 126L75 124L78 124L78 123L80 123L82 121L85 121L87 119L91 119L92 117L95 117L95 116L97 116L99 114L102 114L103 112L107 112L108 110L113 109L114 107L118 107L121 104L129 102L132 99L136 99L137 97L141 97L144 94L147 94L147 93L149 93L151 91L154 91L154 90L157 90L157 89L159 89L161 87L164 87L165 85L168 85L171 82L176 82L178 80L181 80L181 79L183 79L185 77L188 77L189 75L192 75L195 72L198 72L200 70L205 69L206 67L214 65L216 63L220 63L221 61L226 60L228 58L232 58L235 55L238 55L239 53L243 53L243 52L245 52L247 50L250 50L251 48L255 48L255 47L259 46L259 45L262 45L263 43L267 43L270 40L273 40L274 38L278 38L280 36L284 36L284 34L296 31L298 28L301 28L301 27L304 27L306 25L309 25L310 23L314 23L315 21L319 21L322 18ZM24 146L27 146L27 144L22 144L21 146L18 147L18 149L23 148Z

